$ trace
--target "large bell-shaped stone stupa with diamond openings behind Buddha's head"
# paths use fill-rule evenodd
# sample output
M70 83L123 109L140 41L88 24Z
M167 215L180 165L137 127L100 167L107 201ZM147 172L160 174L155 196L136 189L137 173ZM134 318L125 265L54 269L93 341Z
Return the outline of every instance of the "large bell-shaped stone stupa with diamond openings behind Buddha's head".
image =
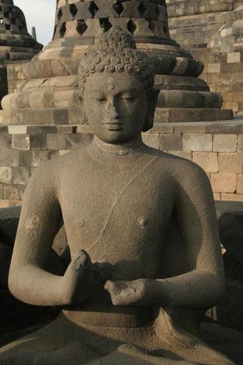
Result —
M171 39L165 0L57 0L53 40L24 65L26 80L3 99L3 122L85 123L78 100L78 63L97 36L112 26L132 33L137 48L153 60L160 88L156 122L232 117L231 111L221 111L221 95L198 78L203 63Z

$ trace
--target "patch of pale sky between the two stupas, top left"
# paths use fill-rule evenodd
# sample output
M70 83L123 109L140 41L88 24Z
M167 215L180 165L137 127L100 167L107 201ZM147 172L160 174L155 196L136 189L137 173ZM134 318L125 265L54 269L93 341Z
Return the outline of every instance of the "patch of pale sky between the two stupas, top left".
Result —
M54 29L56 0L13 0L26 17L28 33L35 26L37 41L46 45Z

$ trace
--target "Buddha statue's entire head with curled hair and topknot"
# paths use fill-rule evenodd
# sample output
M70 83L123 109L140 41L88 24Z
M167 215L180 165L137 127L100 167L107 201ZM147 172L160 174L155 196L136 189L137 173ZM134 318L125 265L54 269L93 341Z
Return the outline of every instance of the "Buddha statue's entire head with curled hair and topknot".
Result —
M103 33L81 60L78 82L83 111L106 143L126 143L153 127L158 90L153 65L120 27Z

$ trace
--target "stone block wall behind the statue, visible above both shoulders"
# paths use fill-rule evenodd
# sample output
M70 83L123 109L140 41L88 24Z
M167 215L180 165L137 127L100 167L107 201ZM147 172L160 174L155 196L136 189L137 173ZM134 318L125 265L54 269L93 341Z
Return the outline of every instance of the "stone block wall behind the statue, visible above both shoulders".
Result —
M243 201L243 121L156 123L143 138L151 147L201 165L215 200ZM40 163L91 140L85 125L0 127L0 207L21 204Z

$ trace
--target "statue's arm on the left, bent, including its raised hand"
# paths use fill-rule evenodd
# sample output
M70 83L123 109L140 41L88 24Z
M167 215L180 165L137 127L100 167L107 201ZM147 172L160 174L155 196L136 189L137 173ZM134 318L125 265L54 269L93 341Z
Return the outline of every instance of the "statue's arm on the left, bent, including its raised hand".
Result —
M28 183L10 265L12 295L31 305L69 305L78 274L87 268L81 254L63 277L45 270L61 218L54 170L52 163L44 164Z

